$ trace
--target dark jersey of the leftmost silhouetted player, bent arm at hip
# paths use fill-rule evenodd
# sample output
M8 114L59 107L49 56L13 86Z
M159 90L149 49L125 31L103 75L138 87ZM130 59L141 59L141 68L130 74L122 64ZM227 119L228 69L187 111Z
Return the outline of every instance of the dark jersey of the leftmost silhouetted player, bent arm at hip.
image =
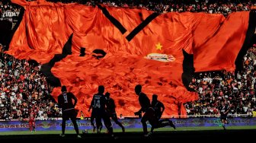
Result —
M58 104L59 104L59 107L62 108L62 111L74 109L75 106L72 99L77 100L75 95L70 92L64 95L63 94L59 95Z

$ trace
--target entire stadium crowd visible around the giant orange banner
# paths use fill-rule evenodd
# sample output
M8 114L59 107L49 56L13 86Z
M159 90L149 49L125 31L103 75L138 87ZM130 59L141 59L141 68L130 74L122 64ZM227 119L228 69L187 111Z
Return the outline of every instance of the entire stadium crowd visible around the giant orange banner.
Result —
M47 0L49 2L78 2L85 5L103 3L114 7L146 8L165 13L169 11L192 11L230 14L235 11L250 11L255 1L221 0ZM5 11L20 11L9 0L0 2L0 15ZM0 45L3 49L3 46ZM248 50L244 58L244 71L230 73L226 71L203 72L194 76L191 87L199 93L200 100L186 103L188 115L217 115L220 100L226 99L231 106L231 114L251 115L256 111L256 45ZM50 93L53 87L46 83L46 77L40 73L40 66L34 62L14 59L0 53L0 119L27 119L30 110L35 110L37 119L60 117L56 101Z

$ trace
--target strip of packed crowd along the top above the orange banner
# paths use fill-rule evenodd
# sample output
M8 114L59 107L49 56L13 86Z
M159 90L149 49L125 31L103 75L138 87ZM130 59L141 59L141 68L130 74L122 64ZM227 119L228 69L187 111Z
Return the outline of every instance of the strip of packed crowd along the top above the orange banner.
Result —
M255 0L47 0L48 2L77 2L84 5L104 4L114 7L145 8L158 13L166 12L205 12L210 14L224 14L225 16L237 11L250 11L256 7Z

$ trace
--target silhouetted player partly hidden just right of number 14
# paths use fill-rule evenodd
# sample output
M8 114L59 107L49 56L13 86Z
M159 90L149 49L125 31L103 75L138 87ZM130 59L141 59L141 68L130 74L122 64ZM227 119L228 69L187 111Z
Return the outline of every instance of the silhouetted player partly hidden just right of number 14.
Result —
M110 93L107 92L105 94L105 97L106 97L106 105L107 105L107 114L111 117L111 119L114 120L114 122L117 123L118 126L122 128L122 131L125 132L123 125L117 119L116 105L114 103L114 100L110 98Z

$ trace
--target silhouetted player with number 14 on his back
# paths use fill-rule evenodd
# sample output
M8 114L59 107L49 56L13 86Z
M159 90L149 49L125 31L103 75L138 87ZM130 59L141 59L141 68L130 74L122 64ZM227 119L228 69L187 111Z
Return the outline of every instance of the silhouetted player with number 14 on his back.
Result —
M113 134L113 128L112 128L112 123L110 121L110 117L107 116L106 112L106 99L104 97L104 86L100 85L98 87L98 94L94 94L92 100L91 100L91 106L94 110L94 115L96 119L96 127L97 127L97 132L100 133L100 129L102 128L102 122L101 119L104 121L104 125L106 126L108 133L114 137Z

